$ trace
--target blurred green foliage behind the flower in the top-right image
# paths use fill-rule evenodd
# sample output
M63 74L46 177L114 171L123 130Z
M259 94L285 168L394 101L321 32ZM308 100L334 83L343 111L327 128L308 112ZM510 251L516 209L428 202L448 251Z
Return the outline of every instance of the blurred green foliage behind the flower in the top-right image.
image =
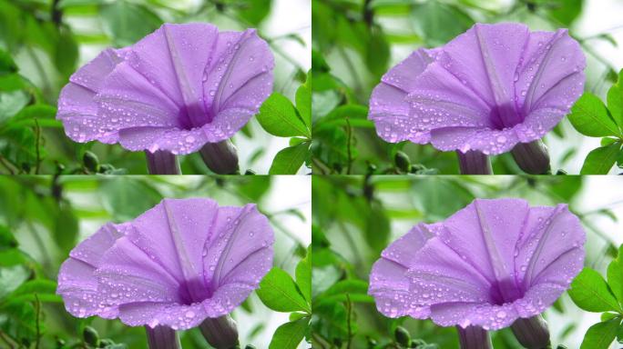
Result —
M587 72L603 72L587 79L591 85L597 83L593 92L601 94L604 81L617 81L618 68L591 45L604 41L616 46L617 42L608 33L577 37L574 25L583 6L583 0L312 0L314 173L457 174L454 152L384 142L367 120L367 105L373 87L391 66L418 47L444 45L475 22L523 22L533 30L570 28L589 57ZM548 137L565 140L568 132L574 132L565 125L567 121ZM414 164L408 171L397 163L398 151ZM577 145L569 144L566 152L557 159L562 169L577 156ZM495 174L522 173L510 154L492 160Z

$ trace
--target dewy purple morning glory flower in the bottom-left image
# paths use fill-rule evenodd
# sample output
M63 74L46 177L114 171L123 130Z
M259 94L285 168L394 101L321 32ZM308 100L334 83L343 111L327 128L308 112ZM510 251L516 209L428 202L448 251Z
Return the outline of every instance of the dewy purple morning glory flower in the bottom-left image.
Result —
M210 344L229 347L238 334L227 315L271 269L273 240L255 204L164 199L78 244L57 293L70 314L144 325L150 341L199 326Z

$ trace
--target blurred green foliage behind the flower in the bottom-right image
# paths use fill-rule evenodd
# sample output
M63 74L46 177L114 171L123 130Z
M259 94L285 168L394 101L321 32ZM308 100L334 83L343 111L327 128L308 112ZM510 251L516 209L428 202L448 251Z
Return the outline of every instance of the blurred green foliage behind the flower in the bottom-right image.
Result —
M587 230L587 265L602 268L603 258L616 257L618 249L608 237L612 233L600 231L593 221L596 215L615 222L618 217L610 207L589 207L589 211L578 212L577 195L590 190L585 185L583 177L568 175L314 176L311 319L314 347L403 348L400 345L403 331L413 341L429 345L423 346L426 348L458 347L452 327L439 327L430 320L409 317L390 319L380 314L367 294L368 275L383 249L412 226L444 220L475 197L521 197L533 205L569 204ZM582 205L587 207L586 203ZM574 318L578 312L567 295L563 295L545 316ZM553 344L564 344L569 336L581 338L583 333L575 332L577 324L576 321L550 323L551 333L556 335ZM521 347L510 329L492 335L497 349Z

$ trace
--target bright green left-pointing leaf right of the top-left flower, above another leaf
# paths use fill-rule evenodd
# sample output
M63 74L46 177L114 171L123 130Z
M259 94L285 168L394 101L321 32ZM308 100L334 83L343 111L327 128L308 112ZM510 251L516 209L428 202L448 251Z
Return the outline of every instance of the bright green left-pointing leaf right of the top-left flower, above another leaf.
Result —
M311 137L310 130L305 126L301 117L297 115L294 105L288 98L279 93L273 93L260 106L257 115L260 125L271 135L293 137L302 135Z

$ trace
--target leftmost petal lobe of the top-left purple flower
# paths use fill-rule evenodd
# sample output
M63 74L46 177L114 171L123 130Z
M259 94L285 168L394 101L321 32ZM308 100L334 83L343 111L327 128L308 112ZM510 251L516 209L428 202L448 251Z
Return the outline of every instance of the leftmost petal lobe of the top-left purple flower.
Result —
M93 98L115 66L123 62L127 50L104 50L69 78L58 97L56 118L63 122L66 135L76 142L98 140L117 142L114 127L97 115Z

